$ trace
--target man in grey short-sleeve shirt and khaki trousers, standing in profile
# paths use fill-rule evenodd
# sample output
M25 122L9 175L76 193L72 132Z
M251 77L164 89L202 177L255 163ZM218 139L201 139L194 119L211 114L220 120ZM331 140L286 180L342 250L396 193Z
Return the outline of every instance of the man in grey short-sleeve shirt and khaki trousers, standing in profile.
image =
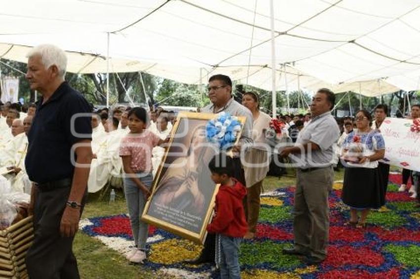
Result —
M286 254L304 255L307 264L319 264L327 256L329 234L328 193L334 181L334 146L339 137L336 120L331 115L334 93L322 88L312 98L311 121L300 131L296 144L281 156L297 165L294 193L294 247Z

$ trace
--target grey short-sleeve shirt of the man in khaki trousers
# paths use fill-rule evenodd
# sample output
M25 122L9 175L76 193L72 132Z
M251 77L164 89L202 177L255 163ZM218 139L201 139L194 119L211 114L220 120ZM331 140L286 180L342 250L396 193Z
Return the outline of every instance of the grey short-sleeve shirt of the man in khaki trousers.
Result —
M337 122L327 111L315 116L298 134L295 145L316 143L320 150L293 154L292 160L299 168L327 167L333 164L336 153L334 147L340 135Z

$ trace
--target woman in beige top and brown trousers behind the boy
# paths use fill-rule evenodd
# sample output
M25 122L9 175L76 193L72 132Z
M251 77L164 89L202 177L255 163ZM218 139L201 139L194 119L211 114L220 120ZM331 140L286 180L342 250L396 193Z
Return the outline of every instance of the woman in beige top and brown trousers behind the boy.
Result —
M246 92L242 97L242 105L252 112L252 140L253 146L245 154L245 180L247 183L247 196L244 201L245 213L248 221L248 232L245 239L252 239L256 232L258 222L262 180L268 172L270 161L267 149L264 148L264 132L269 128L271 117L259 110L259 98L253 92Z

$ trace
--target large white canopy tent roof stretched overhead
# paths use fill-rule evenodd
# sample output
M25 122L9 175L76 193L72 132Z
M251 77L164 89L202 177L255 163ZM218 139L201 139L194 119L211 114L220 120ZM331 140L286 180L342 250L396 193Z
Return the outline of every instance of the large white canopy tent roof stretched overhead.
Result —
M106 72L109 53L108 70L185 83L225 73L266 90L273 77L276 90L378 96L420 89L419 7L275 0L271 28L268 0L14 0L0 12L0 57L26 62L28 46L54 43L72 72Z

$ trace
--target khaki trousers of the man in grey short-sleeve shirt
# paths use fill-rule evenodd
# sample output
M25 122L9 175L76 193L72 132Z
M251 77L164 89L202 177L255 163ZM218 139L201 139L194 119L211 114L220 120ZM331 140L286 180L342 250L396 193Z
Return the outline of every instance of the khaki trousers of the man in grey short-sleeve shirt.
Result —
M328 194L333 186L333 168L306 173L297 170L296 176L294 248L317 259L324 259L330 227Z

